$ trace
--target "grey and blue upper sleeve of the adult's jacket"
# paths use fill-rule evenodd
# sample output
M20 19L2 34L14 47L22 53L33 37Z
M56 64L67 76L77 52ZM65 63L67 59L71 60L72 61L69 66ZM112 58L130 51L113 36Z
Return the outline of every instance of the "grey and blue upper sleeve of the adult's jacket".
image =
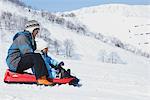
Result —
M20 35L17 38L17 46L22 55L34 52L30 40L24 35Z

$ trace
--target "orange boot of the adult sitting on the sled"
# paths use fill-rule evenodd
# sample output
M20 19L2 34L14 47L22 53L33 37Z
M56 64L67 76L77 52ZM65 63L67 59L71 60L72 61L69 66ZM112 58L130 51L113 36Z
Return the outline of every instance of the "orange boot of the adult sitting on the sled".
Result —
M46 85L46 86L53 86L54 83L50 82L46 79L46 76L42 76L39 79L37 79L37 84L38 85Z

